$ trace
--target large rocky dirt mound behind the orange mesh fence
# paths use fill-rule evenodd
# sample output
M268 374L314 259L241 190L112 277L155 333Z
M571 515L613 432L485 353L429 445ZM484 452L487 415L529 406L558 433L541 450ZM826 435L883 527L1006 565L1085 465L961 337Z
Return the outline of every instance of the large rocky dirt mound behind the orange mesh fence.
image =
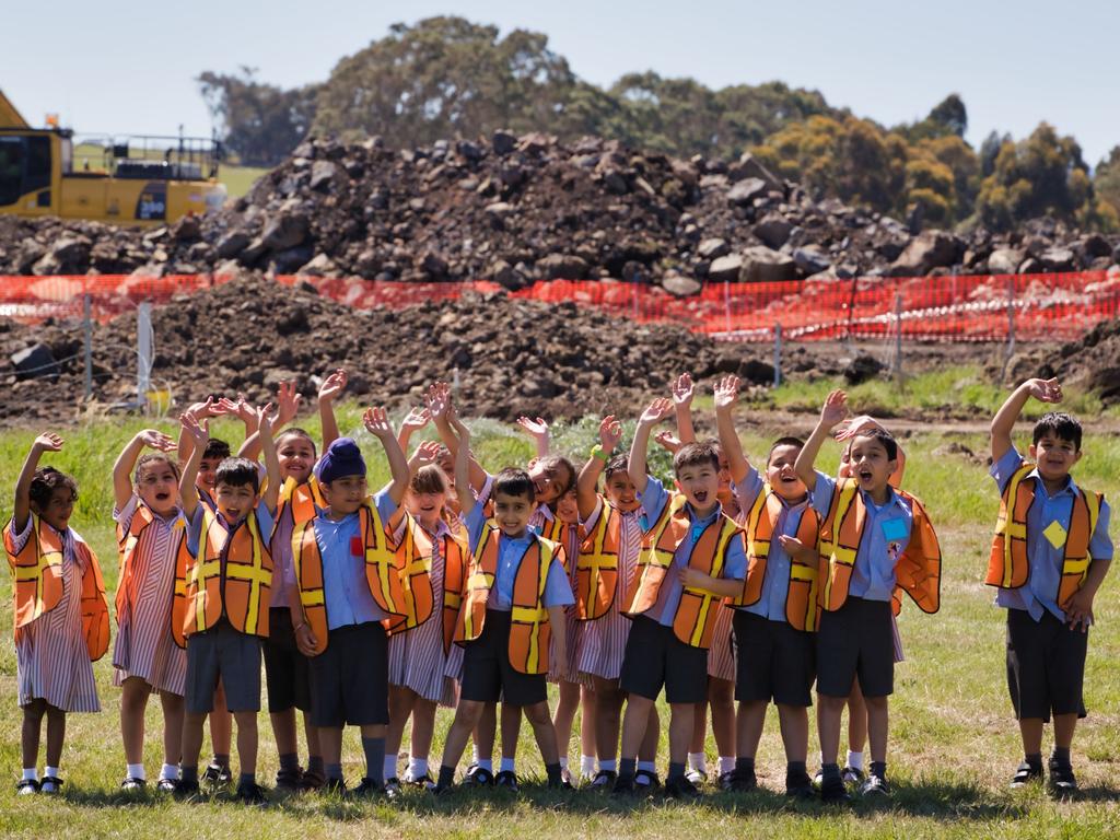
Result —
M382 280L653 282L1107 269L1118 240L1043 220L1008 235L921 231L814 200L749 155L676 160L617 141L532 133L391 151L302 143L204 220L122 230L0 218L0 273L259 269Z

